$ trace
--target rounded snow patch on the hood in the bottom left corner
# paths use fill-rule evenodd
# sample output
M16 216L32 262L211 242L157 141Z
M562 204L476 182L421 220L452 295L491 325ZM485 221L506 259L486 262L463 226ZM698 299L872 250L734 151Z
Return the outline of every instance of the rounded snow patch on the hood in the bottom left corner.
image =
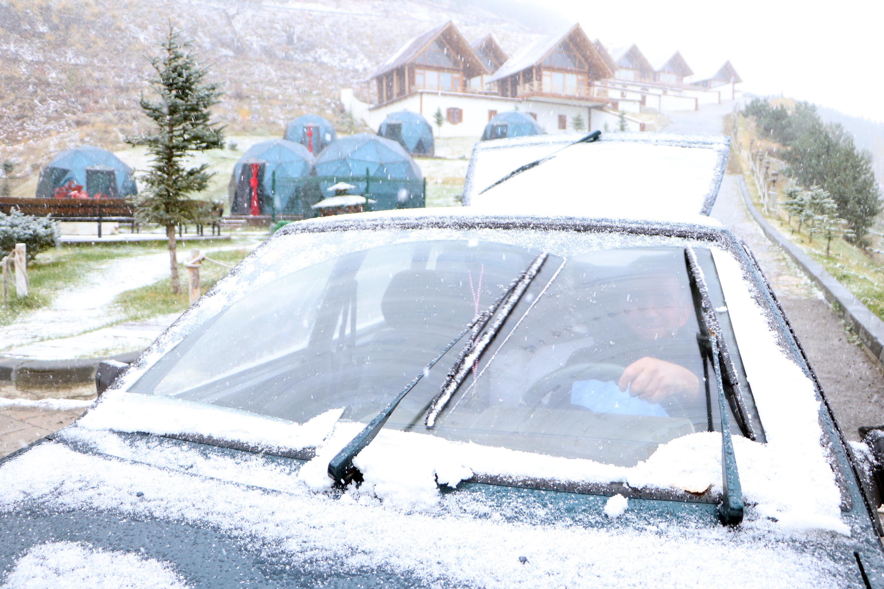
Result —
M185 586L169 564L152 558L83 543L47 542L19 558L0 589L177 589Z

